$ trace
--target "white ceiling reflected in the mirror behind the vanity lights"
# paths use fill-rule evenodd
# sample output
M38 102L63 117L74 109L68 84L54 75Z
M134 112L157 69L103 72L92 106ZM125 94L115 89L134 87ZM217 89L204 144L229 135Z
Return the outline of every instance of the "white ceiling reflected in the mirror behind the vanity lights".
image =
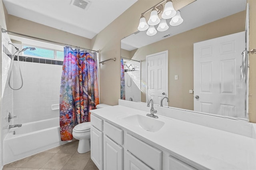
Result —
M169 25L168 30L164 32L157 32L157 34L154 36L146 35L146 31L135 32L134 34L121 40L121 48L131 51L163 40L163 37L168 34L170 36L174 36L204 24L219 20L226 16L230 16L237 12L241 12L246 10L246 0L196 0L179 10L180 15L184 19L182 24L178 26ZM146 18L146 20L148 20L148 18ZM168 24L169 22L170 19L167 20Z

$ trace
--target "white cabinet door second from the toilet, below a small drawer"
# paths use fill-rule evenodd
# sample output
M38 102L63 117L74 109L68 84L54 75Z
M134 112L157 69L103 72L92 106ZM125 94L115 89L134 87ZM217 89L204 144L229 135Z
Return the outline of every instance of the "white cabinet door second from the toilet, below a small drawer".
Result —
M104 170L123 170L123 148L106 135L103 136Z

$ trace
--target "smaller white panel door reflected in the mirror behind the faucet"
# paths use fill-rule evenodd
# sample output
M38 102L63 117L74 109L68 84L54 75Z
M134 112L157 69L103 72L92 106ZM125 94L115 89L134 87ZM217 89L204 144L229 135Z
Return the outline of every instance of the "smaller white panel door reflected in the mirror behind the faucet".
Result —
M146 56L147 90L146 101L153 99L160 105L162 97L168 97L168 51ZM163 105L168 105L164 100Z

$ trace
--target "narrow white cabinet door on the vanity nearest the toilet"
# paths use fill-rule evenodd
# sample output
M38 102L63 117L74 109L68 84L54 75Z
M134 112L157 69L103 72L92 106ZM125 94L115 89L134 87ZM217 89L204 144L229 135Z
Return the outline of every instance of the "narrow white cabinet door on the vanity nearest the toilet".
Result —
M103 132L91 126L91 159L103 170Z

